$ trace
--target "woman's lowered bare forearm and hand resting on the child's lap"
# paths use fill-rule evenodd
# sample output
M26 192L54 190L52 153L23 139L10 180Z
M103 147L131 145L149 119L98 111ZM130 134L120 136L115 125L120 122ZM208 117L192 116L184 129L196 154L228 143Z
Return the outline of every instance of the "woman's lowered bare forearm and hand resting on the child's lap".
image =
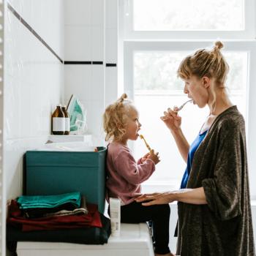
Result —
M136 202L149 201L143 203L143 206L172 203L173 201L192 203L195 205L207 204L206 194L203 187L198 187L197 189L180 189L172 192L140 195L135 200Z

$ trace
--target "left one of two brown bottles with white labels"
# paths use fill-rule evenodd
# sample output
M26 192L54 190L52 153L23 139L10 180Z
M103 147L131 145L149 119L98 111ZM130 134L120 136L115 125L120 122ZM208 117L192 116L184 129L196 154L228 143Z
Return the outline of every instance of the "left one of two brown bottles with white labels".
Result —
M52 133L53 135L64 135L65 133L65 115L60 104L57 105L52 115Z

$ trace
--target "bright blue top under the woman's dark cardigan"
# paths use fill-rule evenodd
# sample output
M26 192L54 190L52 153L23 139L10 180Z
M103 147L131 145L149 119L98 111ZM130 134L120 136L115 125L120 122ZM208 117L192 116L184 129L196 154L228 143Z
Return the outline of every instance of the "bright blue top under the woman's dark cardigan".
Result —
M181 189L185 189L187 187L187 181L189 180L189 173L192 166L192 161L194 158L195 151L197 151L197 148L200 146L200 143L203 141L203 139L206 137L208 130L206 130L203 133L199 133L197 135L197 138L192 142L190 148L189 148L189 154L187 156L187 167L184 173L184 176L181 181Z

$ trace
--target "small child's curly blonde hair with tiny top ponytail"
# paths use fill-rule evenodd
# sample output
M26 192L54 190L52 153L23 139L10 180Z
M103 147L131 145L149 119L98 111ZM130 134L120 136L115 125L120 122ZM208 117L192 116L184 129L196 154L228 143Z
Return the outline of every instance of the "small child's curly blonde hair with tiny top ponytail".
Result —
M121 140L126 132L127 118L129 109L135 108L132 101L127 99L127 94L121 97L113 104L108 105L103 115L103 127L106 133L105 140Z

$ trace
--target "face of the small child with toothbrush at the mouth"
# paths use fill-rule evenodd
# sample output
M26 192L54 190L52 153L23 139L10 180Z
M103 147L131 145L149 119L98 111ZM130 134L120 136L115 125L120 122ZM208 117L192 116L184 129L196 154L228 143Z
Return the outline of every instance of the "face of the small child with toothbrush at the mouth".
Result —
M141 124L139 122L138 111L133 107L129 108L129 113L127 114L126 132L123 136L123 140L137 140L140 127Z

